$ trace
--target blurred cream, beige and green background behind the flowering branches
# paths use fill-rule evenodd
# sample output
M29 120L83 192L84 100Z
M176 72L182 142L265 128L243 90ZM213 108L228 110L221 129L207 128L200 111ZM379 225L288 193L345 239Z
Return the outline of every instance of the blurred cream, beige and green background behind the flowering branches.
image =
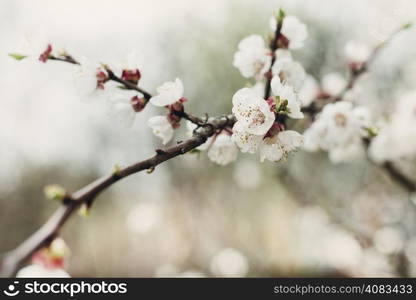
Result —
M0 252L16 247L58 203L43 187L75 191L153 155L161 147L147 119L112 120L100 101L73 84L74 66L17 62L28 32L43 32L75 58L142 58L141 86L154 92L179 77L196 115L231 110L246 85L232 66L238 42L266 35L280 7L305 22L295 57L319 79L347 74L349 40L375 46L416 17L407 1L24 1L0 2ZM415 88L416 36L398 36L360 79L354 101L383 115L398 92ZM177 139L184 138L178 135ZM414 162L402 167L409 174ZM416 179L416 178L415 178ZM326 153L286 162L239 154L227 167L187 154L103 193L88 218L74 216L62 236L77 276L416 276L414 195L368 161L331 164Z

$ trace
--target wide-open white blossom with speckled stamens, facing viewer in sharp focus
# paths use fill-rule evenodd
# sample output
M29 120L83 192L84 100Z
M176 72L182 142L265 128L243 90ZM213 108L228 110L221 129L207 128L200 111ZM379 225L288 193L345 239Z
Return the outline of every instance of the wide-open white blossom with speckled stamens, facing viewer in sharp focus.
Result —
M232 111L240 126L250 134L266 134L275 119L268 103L250 88L240 89L234 94Z

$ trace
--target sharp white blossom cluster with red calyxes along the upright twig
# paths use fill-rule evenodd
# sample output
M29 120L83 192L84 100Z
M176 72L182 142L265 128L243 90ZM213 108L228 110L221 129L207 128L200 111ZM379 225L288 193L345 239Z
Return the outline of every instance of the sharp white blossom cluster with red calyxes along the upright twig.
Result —
M303 46L307 29L294 16L281 18L280 21L281 30L276 33L278 49L274 53L265 46L261 36L250 35L240 42L239 50L234 55L234 66L241 75L253 77L257 83L253 88L240 89L233 96L233 114L237 122L233 127L232 140L243 153L259 151L261 161L279 161L303 143L301 134L285 130L282 119L303 118L300 95L306 73L301 64L292 58L289 49ZM272 18L274 33L277 26L278 21ZM268 84L273 95L266 95L268 98L265 99L261 80L270 78Z

